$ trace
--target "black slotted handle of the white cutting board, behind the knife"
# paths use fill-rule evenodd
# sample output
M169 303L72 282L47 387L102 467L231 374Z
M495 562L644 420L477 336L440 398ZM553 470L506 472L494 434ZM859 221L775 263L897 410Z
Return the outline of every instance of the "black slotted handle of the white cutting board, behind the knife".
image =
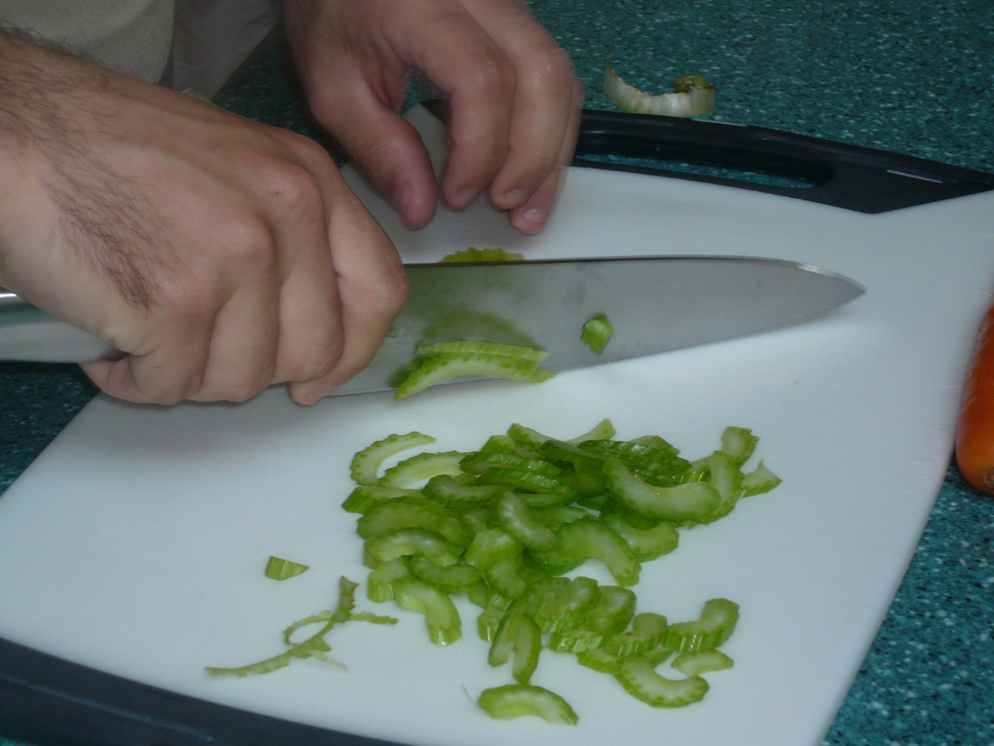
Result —
M629 162L591 160L594 155L620 156ZM651 159L652 164L631 162L636 159ZM667 169L667 161L693 164L698 172ZM862 213L890 212L994 189L994 174L910 155L766 127L589 109L580 121L573 165L735 186ZM744 181L716 173L716 166L799 183Z

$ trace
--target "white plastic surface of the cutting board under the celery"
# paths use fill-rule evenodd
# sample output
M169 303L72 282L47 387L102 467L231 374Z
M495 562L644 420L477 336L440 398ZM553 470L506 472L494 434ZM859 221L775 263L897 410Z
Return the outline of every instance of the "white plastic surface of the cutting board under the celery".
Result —
M429 139L437 126L415 123ZM776 257L865 284L810 322L563 373L540 386L438 387L292 405L275 389L241 406L132 407L99 398L0 499L0 636L206 699L424 746L817 744L872 642L947 464L960 383L994 286L994 193L863 215L741 189L575 169L558 216L524 239L484 205L409 233L364 198L408 261L468 246L533 258L652 254ZM583 319L578 319L580 323ZM668 319L659 319L667 323ZM655 710L571 656L533 681L577 727L490 721L473 704L511 680L486 664L474 608L463 640L426 642L419 617L330 638L348 672L316 661L246 679L204 665L279 653L279 632L328 608L340 575L365 578L339 504L352 455L391 433L472 449L519 422L571 438L609 417L619 437L659 434L697 458L727 425L752 428L783 478L647 564L639 609L696 618L742 606L700 704ZM311 570L266 580L270 555ZM596 563L582 572L608 577ZM665 673L667 666L660 672Z

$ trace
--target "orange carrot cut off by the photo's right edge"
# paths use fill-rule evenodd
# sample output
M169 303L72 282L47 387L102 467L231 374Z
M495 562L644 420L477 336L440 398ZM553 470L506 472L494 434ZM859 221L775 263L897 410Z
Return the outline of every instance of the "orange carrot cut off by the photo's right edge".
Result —
M963 391L956 464L970 484L994 494L994 306L980 324Z

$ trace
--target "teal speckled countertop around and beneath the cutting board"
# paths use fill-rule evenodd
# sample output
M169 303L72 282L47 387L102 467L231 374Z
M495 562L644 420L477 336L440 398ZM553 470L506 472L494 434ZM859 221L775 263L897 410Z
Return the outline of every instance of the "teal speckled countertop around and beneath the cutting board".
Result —
M532 5L573 55L589 108L614 108L600 92L612 52L618 74L653 93L680 74L708 76L719 88L715 118L994 171L991 0ZM312 131L273 43L219 102ZM0 392L3 488L93 391L73 368L3 364ZM0 746L10 743L0 738ZM994 499L972 490L955 467L823 743L994 746Z

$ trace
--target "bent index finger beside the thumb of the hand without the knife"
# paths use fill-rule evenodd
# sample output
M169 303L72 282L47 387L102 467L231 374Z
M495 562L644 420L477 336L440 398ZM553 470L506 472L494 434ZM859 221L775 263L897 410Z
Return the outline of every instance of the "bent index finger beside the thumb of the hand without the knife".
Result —
M497 175L507 155L515 70L461 4L402 4L411 13L389 34L397 54L424 71L450 98L452 149L441 191L456 209L466 207Z

